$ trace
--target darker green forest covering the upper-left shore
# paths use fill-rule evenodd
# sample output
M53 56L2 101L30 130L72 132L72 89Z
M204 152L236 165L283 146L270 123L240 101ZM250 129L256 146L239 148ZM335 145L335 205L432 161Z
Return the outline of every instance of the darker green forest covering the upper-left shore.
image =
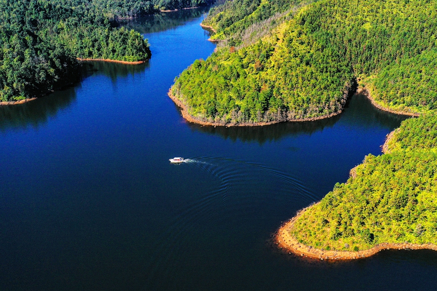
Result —
M108 15L126 16L114 6L125 2L0 0L0 101L30 98L76 81L76 58L149 58L147 40L139 33L111 25Z

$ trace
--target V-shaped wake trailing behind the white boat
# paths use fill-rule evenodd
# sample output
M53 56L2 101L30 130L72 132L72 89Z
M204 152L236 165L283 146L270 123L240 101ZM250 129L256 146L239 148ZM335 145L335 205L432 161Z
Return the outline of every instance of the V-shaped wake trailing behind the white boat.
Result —
M223 157L192 157L181 164L198 168L200 171L193 168L188 172L202 179L197 179L198 184L190 197L182 192L175 194L184 206L169 221L155 246L148 273L152 281L155 274L171 276L174 270L168 267L170 262L189 260L184 257L184 250L192 248L193 237L208 236L205 229L213 232L235 221L246 221L245 225L265 223L261 217L275 217L278 209L288 213L296 205L308 205L319 199L296 177L259 163ZM190 177L186 179L189 185ZM214 237L212 241L219 240L214 234L209 235Z

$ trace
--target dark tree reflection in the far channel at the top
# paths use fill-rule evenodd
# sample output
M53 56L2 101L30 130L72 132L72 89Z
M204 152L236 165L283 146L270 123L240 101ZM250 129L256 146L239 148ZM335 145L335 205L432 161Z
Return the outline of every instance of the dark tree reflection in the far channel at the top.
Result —
M140 34L158 33L172 27L184 24L184 22L193 18L200 17L209 11L211 6L199 7L194 9L183 9L172 12L162 12L145 17L135 18L128 22L122 22L121 25L135 29Z

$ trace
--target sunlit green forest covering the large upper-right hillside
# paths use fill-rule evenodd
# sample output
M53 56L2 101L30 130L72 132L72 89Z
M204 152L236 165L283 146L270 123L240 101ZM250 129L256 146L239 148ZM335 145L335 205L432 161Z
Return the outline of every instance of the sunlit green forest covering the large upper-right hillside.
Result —
M194 117L229 124L329 116L342 110L355 78L383 106L433 109L437 1L245 3L212 11L205 23L228 45L196 61L172 88ZM256 42L243 39L271 19L284 22L262 38L253 31Z

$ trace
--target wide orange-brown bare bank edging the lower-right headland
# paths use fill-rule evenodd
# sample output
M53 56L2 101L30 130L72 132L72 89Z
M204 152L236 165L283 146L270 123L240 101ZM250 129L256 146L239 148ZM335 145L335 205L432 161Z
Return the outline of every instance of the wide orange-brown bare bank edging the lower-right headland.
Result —
M313 205L314 206L314 205ZM310 206L311 207L311 206ZM306 246L299 243L294 237L290 235L290 230L293 228L293 223L302 215L307 208L299 211L295 217L285 222L277 231L275 235L275 242L277 246L283 248L287 252L294 254L316 258L319 260L354 260L357 258L369 257L384 249L432 249L437 250L437 245L428 244L412 244L412 243L381 243L370 249L359 251L336 251L336 250L322 250L314 247Z

